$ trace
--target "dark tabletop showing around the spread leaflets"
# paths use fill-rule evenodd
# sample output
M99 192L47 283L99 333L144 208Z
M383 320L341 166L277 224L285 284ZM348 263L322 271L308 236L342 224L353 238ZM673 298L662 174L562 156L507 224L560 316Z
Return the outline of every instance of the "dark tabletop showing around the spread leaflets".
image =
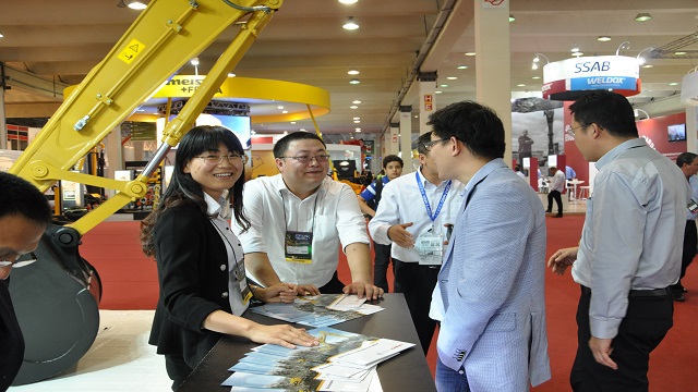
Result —
M377 371L383 391L436 391L404 295L385 294L383 299L370 302L370 304L378 305L385 310L330 327L348 332L414 343L413 347L378 365ZM243 317L263 324L284 323L284 321L251 311L245 311ZM177 391L228 391L229 387L220 385L231 375L228 368L237 364L238 359L252 347L258 345L243 338L224 336Z

